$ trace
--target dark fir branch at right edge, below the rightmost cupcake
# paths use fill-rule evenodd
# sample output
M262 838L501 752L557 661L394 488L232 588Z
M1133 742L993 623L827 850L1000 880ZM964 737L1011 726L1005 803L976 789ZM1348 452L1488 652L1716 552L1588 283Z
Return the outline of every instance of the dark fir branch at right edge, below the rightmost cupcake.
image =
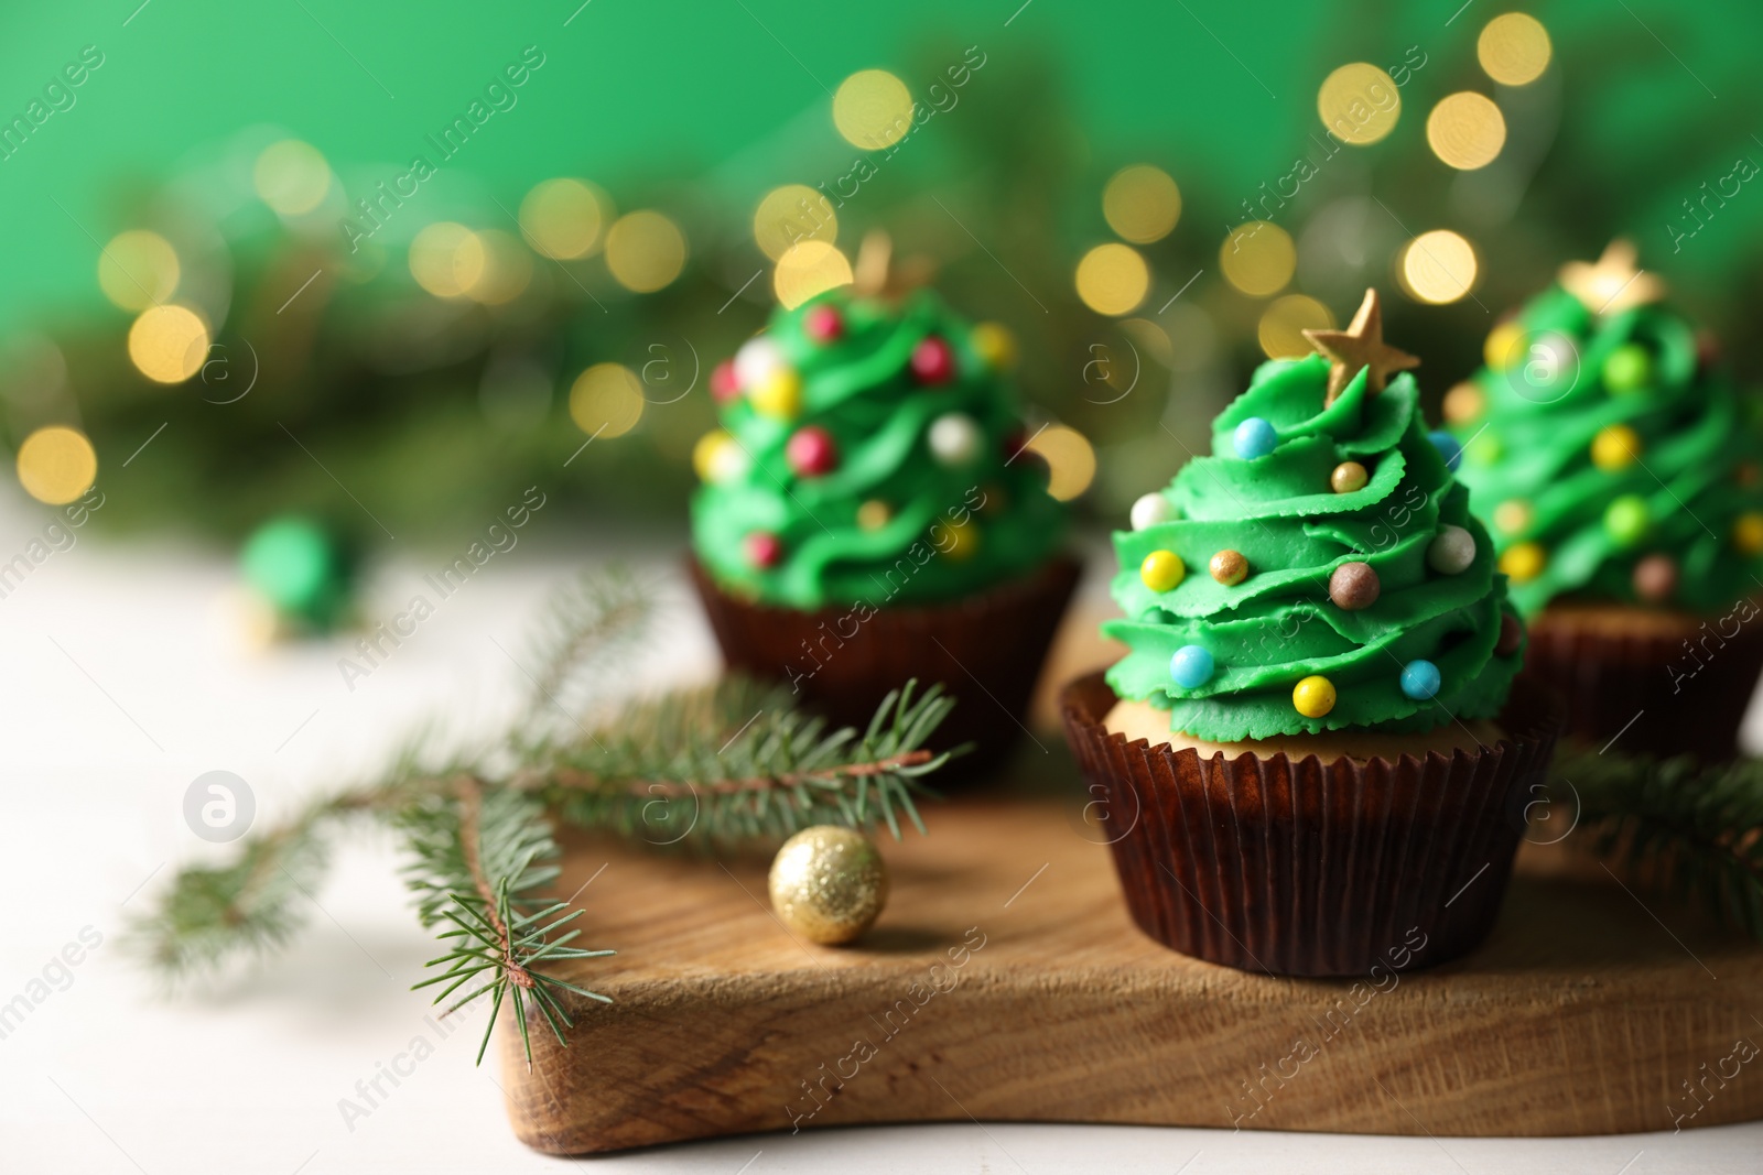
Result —
M1594 853L1763 939L1763 761L1580 752L1555 775L1578 793Z

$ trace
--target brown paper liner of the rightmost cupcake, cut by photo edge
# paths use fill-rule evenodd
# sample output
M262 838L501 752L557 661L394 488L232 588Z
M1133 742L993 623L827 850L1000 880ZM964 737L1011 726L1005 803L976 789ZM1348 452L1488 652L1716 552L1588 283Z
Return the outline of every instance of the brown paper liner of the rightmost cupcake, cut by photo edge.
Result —
M1530 622L1525 676L1562 696L1566 735L1594 749L1731 759L1763 673L1763 615L1742 615L1650 617L1624 632L1544 610Z

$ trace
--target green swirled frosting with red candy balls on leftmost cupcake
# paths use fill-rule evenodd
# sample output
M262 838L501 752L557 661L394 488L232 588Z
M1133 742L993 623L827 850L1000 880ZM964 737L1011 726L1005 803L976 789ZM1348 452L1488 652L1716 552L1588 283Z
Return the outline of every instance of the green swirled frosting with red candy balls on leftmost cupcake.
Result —
M712 375L698 560L726 590L806 610L950 601L1038 569L1067 511L1023 453L1012 352L929 291L779 310Z

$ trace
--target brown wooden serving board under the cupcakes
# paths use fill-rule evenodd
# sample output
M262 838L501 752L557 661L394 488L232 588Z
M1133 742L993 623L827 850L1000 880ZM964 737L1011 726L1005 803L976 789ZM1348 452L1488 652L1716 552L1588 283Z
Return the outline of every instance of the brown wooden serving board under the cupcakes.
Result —
M1588 1134L1763 1117L1763 950L1527 847L1491 939L1393 988L1174 955L1127 918L1061 745L927 803L852 948L799 942L763 860L575 842L594 877L569 1048L501 1029L515 1133L554 1152L852 1122ZM585 1004L585 1001L584 1001ZM1744 1045L1740 1045L1744 1041ZM1747 1053L1749 1050L1749 1053ZM1735 1076L1737 1071L1737 1076ZM1724 1073L1726 1076L1721 1076Z

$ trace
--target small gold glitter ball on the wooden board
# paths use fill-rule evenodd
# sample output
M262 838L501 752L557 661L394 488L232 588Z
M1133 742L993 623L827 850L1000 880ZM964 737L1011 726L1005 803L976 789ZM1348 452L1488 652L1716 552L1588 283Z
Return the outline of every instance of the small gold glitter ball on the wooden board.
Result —
M887 867L869 837L837 824L804 828L777 849L772 909L811 942L850 942L887 904Z

